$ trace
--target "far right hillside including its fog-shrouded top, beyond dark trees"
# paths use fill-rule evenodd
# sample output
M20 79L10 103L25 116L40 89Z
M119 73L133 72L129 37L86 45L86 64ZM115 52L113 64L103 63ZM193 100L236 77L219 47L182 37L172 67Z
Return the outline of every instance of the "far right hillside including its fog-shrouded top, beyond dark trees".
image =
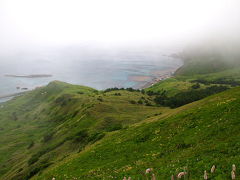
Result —
M234 87L240 85L240 45L239 43L198 43L186 47L178 54L183 60L174 76L147 88L147 91L163 92L167 96L193 89L211 86Z

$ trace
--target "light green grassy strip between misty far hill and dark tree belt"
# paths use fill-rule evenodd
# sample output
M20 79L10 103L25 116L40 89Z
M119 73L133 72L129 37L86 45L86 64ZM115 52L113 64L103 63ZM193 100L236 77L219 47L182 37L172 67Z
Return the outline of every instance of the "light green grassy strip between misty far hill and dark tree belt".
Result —
M195 87L196 85L198 88ZM239 86L240 67L209 74L195 74L191 76L175 75L172 78L154 84L145 91L152 91L155 93L166 91L166 95L172 97L181 92L199 88L205 89L216 85L228 87Z

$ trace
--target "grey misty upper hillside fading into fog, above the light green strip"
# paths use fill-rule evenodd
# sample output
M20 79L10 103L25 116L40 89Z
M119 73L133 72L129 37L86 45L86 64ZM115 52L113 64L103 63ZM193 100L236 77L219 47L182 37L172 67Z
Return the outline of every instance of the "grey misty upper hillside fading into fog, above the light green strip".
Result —
M240 67L240 44L222 41L218 43L204 42L187 47L180 53L181 58L184 60L184 65L175 74L206 74Z

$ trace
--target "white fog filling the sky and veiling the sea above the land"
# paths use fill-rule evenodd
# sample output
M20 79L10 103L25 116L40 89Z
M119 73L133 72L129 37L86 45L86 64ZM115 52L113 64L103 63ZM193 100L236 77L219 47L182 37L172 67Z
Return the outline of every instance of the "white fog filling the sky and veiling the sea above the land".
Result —
M173 53L235 60L239 42L239 0L0 0L0 95L55 79L141 88L182 64Z

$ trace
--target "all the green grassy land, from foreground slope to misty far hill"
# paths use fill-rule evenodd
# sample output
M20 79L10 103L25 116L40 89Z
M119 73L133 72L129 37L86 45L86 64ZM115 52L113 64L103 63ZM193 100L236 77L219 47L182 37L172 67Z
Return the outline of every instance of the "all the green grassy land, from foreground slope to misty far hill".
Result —
M144 90L54 81L1 104L0 179L145 179L147 168L201 179L213 164L212 179L229 179L240 165L240 68L193 57Z

